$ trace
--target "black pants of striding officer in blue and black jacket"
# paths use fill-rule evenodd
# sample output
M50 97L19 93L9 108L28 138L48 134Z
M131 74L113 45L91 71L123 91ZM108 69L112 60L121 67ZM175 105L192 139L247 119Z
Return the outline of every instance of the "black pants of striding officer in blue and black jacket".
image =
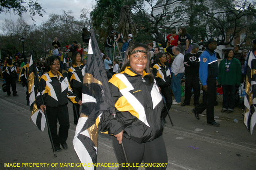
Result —
M203 102L196 107L196 111L201 114L206 109L207 123L214 120L214 102L217 95L216 78L207 79L207 91L203 91Z

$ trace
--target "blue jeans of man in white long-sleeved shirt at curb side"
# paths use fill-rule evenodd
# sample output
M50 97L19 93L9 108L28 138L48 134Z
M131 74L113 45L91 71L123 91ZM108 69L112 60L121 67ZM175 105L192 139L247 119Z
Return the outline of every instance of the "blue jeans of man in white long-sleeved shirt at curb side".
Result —
M182 78L183 73L180 72L176 76L174 76L174 73L172 72L172 91L174 98L177 103L181 103L181 88L180 88L180 82Z

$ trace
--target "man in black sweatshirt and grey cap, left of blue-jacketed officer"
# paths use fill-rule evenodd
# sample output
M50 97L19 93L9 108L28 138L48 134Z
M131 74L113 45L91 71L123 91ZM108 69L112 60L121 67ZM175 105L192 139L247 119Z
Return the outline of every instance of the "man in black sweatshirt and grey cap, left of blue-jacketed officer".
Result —
M185 54L184 56L184 67L185 67L185 100L180 106L189 105L191 99L191 90L193 88L194 94L194 106L199 105L200 97L200 84L199 84L199 65L200 65L200 54L197 53L199 45L194 43L192 45L192 51Z

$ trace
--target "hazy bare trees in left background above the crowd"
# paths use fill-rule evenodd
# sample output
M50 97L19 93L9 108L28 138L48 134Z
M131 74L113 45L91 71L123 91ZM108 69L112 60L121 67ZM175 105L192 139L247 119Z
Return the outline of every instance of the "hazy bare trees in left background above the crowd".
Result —
M82 10L83 11L83 10ZM82 12L86 15L86 11ZM46 50L52 49L52 41L58 38L61 47L72 44L76 40L82 45L82 28L89 23L82 16L81 20L76 20L72 11L63 11L61 14L52 13L48 20L38 27L27 24L22 17L17 21L7 20L1 25L3 35L0 35L1 52L16 54L16 50L22 52L20 38L26 38L25 54L28 56L31 50L39 57L49 54ZM62 49L63 50L63 49Z

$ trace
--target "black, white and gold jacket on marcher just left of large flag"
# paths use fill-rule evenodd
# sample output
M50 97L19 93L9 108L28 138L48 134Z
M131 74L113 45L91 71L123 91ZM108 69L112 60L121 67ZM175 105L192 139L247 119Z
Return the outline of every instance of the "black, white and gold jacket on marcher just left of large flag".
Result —
M83 87L83 76L86 65L80 63L79 66L73 65L68 69L68 77L70 79L71 87Z

